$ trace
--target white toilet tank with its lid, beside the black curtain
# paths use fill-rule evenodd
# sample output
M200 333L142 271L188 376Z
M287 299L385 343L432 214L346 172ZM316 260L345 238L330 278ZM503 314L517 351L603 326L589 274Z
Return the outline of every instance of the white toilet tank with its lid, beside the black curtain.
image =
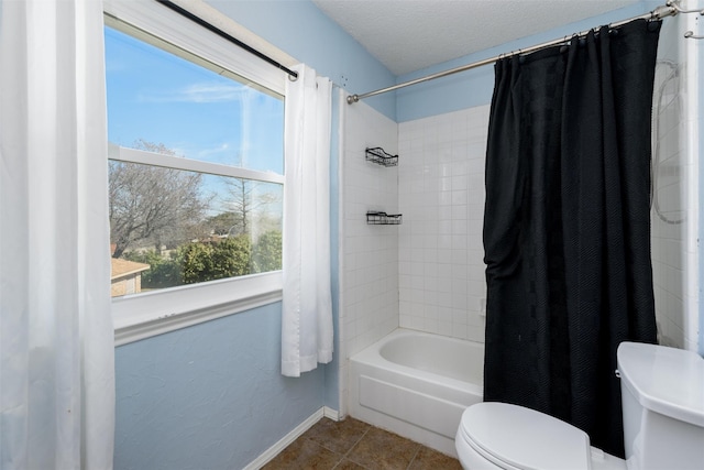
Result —
M704 469L704 359L636 342L617 356L628 469Z

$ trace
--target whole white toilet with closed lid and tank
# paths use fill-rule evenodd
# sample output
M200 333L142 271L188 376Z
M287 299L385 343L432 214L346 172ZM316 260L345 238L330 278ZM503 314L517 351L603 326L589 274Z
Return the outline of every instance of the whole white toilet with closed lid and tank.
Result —
M455 448L464 469L704 469L704 359L624 342L617 352L626 460L590 446L581 429L507 403L464 411Z

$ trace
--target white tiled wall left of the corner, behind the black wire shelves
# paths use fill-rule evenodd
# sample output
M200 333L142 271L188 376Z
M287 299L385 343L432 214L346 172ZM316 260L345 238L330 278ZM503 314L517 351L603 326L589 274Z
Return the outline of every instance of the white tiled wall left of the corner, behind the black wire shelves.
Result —
M398 327L399 226L366 225L367 210L398 214L398 167L367 162L364 152L381 146L398 154L398 124L363 102L340 112L340 413L346 415L348 358Z

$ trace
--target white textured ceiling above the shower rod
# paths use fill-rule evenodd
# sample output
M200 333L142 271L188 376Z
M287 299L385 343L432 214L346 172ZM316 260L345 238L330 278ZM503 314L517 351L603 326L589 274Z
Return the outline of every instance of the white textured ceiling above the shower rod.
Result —
M394 75L638 3L638 0L312 1Z

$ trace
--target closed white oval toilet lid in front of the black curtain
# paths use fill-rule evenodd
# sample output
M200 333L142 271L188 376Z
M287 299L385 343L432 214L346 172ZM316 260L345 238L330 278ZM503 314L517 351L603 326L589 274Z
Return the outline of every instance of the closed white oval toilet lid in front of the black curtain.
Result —
M504 468L587 470L590 438L574 426L536 411L485 402L462 414L462 435Z

